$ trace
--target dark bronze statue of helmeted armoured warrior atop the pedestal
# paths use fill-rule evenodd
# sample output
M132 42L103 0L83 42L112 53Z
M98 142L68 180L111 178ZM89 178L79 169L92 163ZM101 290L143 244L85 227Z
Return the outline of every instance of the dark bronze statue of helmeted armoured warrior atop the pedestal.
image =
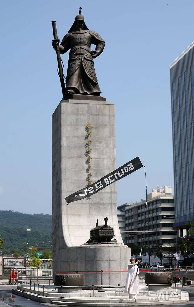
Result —
M59 45L61 54L70 49L65 95L100 95L93 59L103 52L105 42L98 33L87 28L79 9L79 15ZM91 44L96 45L95 51L90 49ZM57 50L57 40L54 39L52 45Z

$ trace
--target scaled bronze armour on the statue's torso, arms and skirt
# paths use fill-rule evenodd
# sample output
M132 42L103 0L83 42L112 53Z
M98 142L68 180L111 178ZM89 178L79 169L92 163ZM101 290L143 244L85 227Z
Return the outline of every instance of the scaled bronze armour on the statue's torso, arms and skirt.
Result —
M73 31L65 35L61 45L64 47L65 52L70 49L69 61L66 82L81 66L86 76L94 83L98 84L94 69L94 61L92 58L91 44L96 45L96 50L99 54L103 51L104 40L98 33L91 30ZM69 81L69 83L71 83ZM71 86L71 85L70 85Z

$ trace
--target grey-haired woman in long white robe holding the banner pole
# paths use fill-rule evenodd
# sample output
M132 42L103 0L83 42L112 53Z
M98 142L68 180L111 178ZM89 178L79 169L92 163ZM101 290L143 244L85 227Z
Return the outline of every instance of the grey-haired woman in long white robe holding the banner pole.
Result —
M135 262L135 258L130 259L130 264L128 265L128 273L127 273L127 279L125 284L125 293L129 293L129 298L137 298L136 294L139 293L139 269L138 268L138 262L141 260L138 260Z

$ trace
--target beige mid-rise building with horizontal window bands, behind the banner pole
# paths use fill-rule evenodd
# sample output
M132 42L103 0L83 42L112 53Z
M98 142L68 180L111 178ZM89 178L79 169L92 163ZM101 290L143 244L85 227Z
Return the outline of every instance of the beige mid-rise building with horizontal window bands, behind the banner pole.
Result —
M145 245L162 244L162 248L172 247L175 239L174 223L174 196L172 188L153 189L147 195L146 200L132 204L125 208L125 225L126 231L143 231L146 219L146 230L155 231L155 234L145 234ZM140 243L142 234L134 235L126 233L126 243Z

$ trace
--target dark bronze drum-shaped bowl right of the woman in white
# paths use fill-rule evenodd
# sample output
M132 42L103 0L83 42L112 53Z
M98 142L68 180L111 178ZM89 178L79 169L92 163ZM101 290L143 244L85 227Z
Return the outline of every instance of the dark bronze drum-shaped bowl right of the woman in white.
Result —
M146 284L172 284L173 274L172 272L150 272L145 273Z

